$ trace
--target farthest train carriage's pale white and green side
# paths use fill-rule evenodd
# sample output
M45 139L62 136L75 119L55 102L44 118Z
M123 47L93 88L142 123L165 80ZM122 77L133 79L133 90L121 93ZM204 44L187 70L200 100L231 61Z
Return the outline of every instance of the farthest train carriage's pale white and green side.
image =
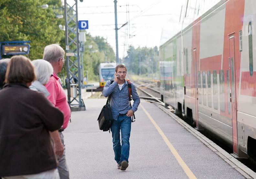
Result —
M165 104L171 105L181 114L184 104L184 77L181 52L181 37L177 36L160 47L161 94Z

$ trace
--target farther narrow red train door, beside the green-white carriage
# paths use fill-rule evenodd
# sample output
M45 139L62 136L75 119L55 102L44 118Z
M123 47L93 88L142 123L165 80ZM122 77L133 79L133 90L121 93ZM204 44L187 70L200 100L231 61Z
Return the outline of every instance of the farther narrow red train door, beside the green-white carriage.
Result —
M193 62L194 62L194 82L195 82L195 113L196 113L196 127L198 126L198 88L197 88L197 48L193 49Z

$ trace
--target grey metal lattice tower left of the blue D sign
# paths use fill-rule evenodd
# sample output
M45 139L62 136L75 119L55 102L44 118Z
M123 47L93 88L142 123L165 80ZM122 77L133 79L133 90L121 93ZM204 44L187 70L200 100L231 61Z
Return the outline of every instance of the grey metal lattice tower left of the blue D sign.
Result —
M64 0L68 100L70 101L72 111L83 111L85 110L85 105L81 99L82 78L77 0L73 0L73 3L74 4L70 5L67 3L67 0ZM72 90L70 90L70 87ZM71 100L70 98L73 99Z

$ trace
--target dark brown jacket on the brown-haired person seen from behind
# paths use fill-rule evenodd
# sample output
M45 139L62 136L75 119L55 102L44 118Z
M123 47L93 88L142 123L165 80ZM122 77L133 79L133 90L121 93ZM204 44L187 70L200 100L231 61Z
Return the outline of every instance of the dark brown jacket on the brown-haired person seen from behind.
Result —
M37 174L57 167L49 131L63 114L23 84L0 90L0 176Z

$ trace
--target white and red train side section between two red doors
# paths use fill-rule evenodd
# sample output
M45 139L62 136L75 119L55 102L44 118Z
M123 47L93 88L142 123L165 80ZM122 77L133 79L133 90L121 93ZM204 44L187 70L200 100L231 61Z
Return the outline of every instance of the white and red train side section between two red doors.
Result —
M198 122L203 128L232 145L232 121L222 68L225 4L200 21L200 55L197 71ZM224 63L227 63L226 61ZM227 81L226 81L227 83Z

